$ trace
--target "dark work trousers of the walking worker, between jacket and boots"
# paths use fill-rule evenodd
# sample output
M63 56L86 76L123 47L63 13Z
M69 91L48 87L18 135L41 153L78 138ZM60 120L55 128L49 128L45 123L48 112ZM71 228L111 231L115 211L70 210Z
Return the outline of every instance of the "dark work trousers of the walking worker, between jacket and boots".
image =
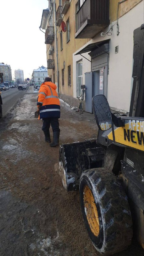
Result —
M46 132L46 131L48 131L50 129L50 125L52 126L52 131L53 132L56 132L56 131L60 132L59 118L58 117L46 117L46 118L43 118L42 130L44 132Z

